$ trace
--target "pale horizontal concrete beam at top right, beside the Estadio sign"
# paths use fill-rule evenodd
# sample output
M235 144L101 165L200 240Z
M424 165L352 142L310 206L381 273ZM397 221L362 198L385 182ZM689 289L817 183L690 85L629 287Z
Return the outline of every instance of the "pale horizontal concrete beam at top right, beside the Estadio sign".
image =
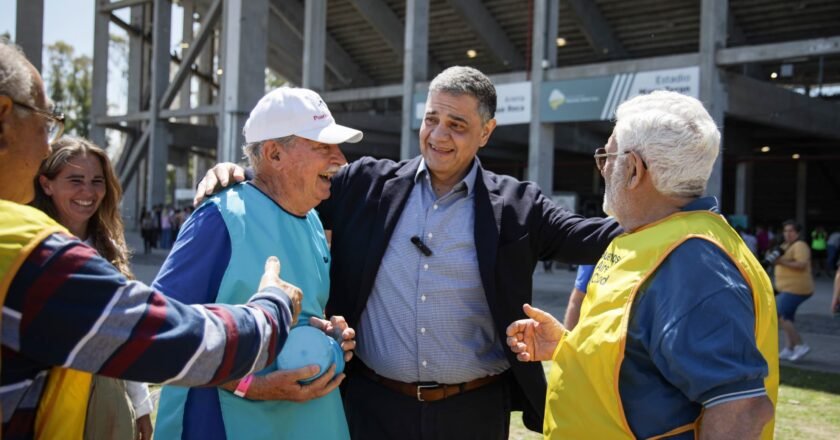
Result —
M840 36L731 47L719 50L715 61L719 66L730 66L733 64L835 54L840 54Z

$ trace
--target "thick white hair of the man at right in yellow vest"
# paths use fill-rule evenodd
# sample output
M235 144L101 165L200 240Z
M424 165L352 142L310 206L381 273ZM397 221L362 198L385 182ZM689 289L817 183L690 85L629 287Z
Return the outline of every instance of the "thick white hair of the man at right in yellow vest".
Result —
M618 151L636 151L662 194L699 197L720 151L720 131L703 104L655 91L622 103L616 114Z

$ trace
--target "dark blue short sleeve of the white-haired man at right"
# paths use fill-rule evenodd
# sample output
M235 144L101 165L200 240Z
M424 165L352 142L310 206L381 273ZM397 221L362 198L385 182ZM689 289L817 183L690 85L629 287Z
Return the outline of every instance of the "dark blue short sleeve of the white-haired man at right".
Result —
M644 296L642 313L657 316L648 340L652 360L690 400L709 407L765 394L768 367L755 341L752 291L723 251L686 241Z

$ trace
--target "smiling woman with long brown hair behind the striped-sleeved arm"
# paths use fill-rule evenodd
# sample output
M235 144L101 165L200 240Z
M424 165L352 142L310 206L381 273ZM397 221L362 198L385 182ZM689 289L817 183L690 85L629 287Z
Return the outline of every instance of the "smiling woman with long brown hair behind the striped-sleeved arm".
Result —
M85 139L62 137L41 164L37 180L32 206L134 279L119 212L122 188L105 151ZM145 383L94 376L89 399L86 438L152 438L152 403Z

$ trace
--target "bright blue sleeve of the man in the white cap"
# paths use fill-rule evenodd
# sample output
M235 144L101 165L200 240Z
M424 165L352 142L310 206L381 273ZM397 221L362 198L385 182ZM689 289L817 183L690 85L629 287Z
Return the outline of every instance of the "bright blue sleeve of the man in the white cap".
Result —
M230 256L222 214L205 203L184 222L152 287L187 304L216 302Z

